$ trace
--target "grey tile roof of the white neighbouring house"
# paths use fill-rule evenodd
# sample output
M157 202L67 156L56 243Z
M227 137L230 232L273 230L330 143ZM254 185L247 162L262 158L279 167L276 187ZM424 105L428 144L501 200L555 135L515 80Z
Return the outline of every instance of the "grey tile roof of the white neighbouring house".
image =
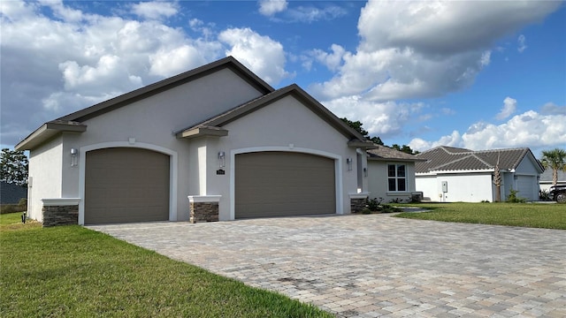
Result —
M501 170L513 170L521 163L525 155L532 155L529 148L510 148L493 150L470 150L440 146L417 155L424 162L415 164L417 173L435 170L492 170L499 159ZM534 159L534 155L532 155ZM540 163L534 159L542 167Z

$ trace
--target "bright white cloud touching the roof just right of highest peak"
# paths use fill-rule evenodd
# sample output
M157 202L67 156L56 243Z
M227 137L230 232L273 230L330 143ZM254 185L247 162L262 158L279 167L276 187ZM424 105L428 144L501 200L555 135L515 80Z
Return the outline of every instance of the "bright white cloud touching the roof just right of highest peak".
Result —
M285 71L283 45L269 36L257 34L248 27L230 28L221 32L218 40L231 47L226 55L237 58L270 84L277 84L289 75Z

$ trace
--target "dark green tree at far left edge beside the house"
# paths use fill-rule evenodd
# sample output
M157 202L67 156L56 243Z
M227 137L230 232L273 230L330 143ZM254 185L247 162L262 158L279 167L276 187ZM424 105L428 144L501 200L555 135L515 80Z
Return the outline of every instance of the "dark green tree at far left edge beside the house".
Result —
M27 187L27 156L23 151L2 149L0 154L0 181Z

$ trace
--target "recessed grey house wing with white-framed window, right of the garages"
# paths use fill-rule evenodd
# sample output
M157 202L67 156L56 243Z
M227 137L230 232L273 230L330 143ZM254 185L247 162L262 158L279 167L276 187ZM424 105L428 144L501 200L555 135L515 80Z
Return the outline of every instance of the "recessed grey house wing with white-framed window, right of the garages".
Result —
M369 149L367 155L370 198L410 201L421 195L416 193L415 163L424 159L386 146Z

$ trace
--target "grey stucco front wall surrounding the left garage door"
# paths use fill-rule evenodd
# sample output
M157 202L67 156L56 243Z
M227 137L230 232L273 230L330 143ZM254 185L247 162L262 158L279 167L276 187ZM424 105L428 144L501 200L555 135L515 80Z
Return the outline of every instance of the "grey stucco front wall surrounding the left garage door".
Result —
M200 192L199 189L193 188L200 185L198 182L192 182L191 174L195 171L189 169L190 161L197 157L191 153L195 150L190 146L191 141L177 139L174 132L260 95L261 93L244 79L225 69L174 87L162 94L90 118L84 122L88 126L87 132L65 133L59 139L59 141L65 140L65 146L59 146L61 151L58 155L59 170L60 162L64 161L63 191L59 190L57 196L73 198L82 196L84 179L81 179L81 175L84 175L86 150L106 147L149 148L171 155L172 177L175 176L171 187L172 191L175 191L172 193L174 196L172 206L176 206L173 211L176 216L172 219L186 221L189 217L187 195ZM71 166L71 148L81 149L79 156L82 166L80 164L76 167ZM172 154L175 160L178 160L175 164ZM34 164L30 164L32 165ZM49 166L52 167L51 164ZM188 181L189 179L191 182ZM50 194L50 197L53 195L55 193ZM84 211L80 210L80 214L83 213Z

